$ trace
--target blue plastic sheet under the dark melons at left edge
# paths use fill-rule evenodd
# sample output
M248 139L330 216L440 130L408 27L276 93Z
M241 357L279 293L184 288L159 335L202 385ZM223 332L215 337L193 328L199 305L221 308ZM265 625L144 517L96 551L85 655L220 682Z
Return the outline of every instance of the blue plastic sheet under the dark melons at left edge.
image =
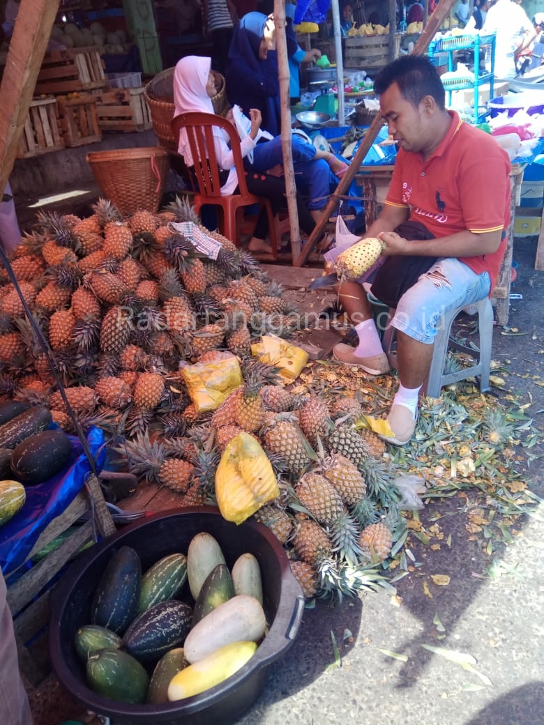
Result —
M4 576L25 561L41 532L70 505L85 485L91 467L81 441L69 437L72 442L70 467L43 484L27 486L25 505L0 529L0 566ZM87 441L96 462L96 473L99 473L106 457L103 431L90 428Z

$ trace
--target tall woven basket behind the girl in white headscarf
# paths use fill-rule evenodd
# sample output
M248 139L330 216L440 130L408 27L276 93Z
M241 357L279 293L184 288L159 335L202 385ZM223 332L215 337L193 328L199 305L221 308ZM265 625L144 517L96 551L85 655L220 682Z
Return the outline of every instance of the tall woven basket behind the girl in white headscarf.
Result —
M218 115L226 116L229 106L226 99L225 78L215 70L212 72L215 75L215 88L218 89L212 98L213 109ZM153 130L160 145L168 151L177 152L178 142L170 128L174 117L173 76L173 68L157 73L144 88L144 96L151 112Z

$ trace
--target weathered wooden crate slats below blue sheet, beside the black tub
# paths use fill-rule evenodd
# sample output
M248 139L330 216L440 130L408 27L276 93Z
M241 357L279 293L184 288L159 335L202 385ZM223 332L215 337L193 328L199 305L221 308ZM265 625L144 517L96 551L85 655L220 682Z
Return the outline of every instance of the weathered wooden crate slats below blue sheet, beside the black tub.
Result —
M82 489L73 502L54 518L38 537L33 549L28 554L25 564L17 572L23 570L26 563L47 544L63 534L81 516L94 510L96 524L102 536L109 536L115 532L109 510L95 476L87 481L88 489ZM90 508L92 497L93 507ZM94 523L89 518L81 526L74 526L62 544L47 554L38 563L33 564L15 581L7 578L7 603L13 616L17 653L22 674L28 682L36 687L44 677L49 674L49 655L47 650L46 626L49 622L49 595L51 585L62 568L81 549L81 547L94 539Z

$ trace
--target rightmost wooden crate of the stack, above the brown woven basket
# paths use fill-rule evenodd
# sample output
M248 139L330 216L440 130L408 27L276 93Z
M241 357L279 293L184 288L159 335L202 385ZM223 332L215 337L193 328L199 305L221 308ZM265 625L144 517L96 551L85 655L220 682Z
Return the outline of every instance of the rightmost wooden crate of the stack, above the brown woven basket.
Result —
M98 123L103 131L143 131L152 128L144 88L112 88L96 94Z

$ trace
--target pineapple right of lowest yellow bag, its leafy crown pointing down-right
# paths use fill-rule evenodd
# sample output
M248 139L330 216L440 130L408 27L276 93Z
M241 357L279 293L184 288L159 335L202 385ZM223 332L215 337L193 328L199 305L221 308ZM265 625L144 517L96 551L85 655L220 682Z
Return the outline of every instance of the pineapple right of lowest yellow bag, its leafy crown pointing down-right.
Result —
M357 522L345 508L342 497L324 476L305 473L295 489L297 498L319 523L329 529L333 551L342 561L355 564L360 555Z

